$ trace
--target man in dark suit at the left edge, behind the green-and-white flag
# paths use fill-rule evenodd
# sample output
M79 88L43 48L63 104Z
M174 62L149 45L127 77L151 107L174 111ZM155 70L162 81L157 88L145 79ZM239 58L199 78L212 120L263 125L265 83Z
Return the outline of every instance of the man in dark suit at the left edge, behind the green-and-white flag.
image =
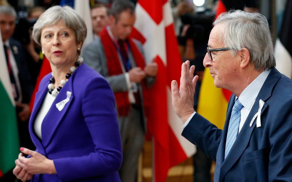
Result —
M15 30L15 25L16 12L14 8L8 5L0 6L1 36L4 45L12 95L14 96L16 103L20 144L22 146L34 148L28 131L28 119L30 117L30 107L28 103L33 91L33 85L22 45L17 40L11 38ZM10 173L7 174L7 181L10 181L8 180L9 175ZM3 178L6 179L6 176Z

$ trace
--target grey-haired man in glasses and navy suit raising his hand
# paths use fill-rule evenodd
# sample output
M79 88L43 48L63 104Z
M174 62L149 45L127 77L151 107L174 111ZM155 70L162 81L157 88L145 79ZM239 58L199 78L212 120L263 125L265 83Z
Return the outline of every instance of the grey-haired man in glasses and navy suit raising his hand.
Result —
M172 81L172 105L185 123L182 136L216 161L214 181L292 181L292 81L274 67L266 18L241 10L221 14L203 64L216 87L233 93L224 129L194 112L198 76L189 61L180 87Z

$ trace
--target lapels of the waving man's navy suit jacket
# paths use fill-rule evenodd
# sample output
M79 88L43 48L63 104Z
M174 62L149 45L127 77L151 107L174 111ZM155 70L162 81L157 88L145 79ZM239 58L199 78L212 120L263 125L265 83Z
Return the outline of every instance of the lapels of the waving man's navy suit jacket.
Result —
M242 130L238 134L233 146L231 147L231 150L229 151L229 155L224 160L225 141L226 141L228 125L229 125L229 124L226 124L226 122L229 123L229 118L230 118L230 115L228 115L228 120L226 120L225 126L224 126L224 130L225 130L224 135L222 136L223 141L221 140L221 143L223 142L224 144L221 146L221 152L222 151L223 152L221 153L220 159L222 160L222 156L223 156L224 162L222 163L221 168L220 168L219 181L224 180L224 177L227 174L227 172L236 163L236 161L239 159L239 157L242 155L242 153L246 149L246 147L249 143L252 131L254 130L255 125L256 125L256 120L255 120L253 122L252 126L251 127L249 126L253 116L258 112L259 100L262 99L263 101L266 101L271 96L272 91L273 91L273 87L275 86L277 81L280 79L280 77L281 77L281 74L275 68L273 68L271 70L271 72L269 73L269 76L267 77L265 83L263 84L263 86L259 92L259 95L255 99L255 103L252 106L252 109L249 112L249 115L245 120L245 123L242 127ZM230 105L229 110L230 110L230 108L233 107L233 105L234 105L234 101L233 101L233 104ZM267 106L268 105L265 103L263 108L262 108L261 114L266 110ZM222 150L222 147L224 147L224 150ZM232 155L230 155L230 154L232 154Z

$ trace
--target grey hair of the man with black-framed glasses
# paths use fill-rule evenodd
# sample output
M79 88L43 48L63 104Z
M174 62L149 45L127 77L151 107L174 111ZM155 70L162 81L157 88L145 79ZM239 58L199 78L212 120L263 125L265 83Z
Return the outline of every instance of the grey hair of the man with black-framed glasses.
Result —
M231 10L217 17L213 25L218 24L223 25L221 39L231 48L233 56L245 47L256 70L276 66L272 36L264 15Z

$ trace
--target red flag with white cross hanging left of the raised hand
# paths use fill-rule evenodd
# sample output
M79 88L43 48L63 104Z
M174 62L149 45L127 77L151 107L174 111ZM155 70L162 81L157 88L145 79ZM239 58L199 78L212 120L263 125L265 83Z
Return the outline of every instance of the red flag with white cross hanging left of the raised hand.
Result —
M181 136L183 123L172 108L171 81L179 82L181 58L167 0L138 0L131 37L142 42L146 64L155 61L158 73L150 89L148 132L153 136L154 180L165 181L170 167L195 153L195 146Z

